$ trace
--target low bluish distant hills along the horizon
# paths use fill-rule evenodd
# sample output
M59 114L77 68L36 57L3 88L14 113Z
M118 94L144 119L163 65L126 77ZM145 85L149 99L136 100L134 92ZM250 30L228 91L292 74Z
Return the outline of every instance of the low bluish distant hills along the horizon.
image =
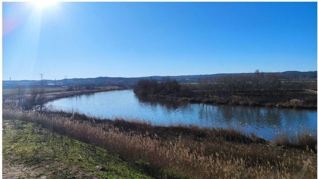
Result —
M179 83L196 83L200 79L204 78L214 78L219 76L227 75L244 75L248 73L234 73L234 74L212 74L212 75L182 75L182 76L152 76L152 77L133 77L133 78L123 78L123 77L97 77L97 78L74 78L74 79L63 79L63 80L43 80L42 83L45 86L65 86L65 85L85 85L94 84L98 86L116 86L120 84L136 84L141 79L154 79L162 81L165 78L177 80ZM268 74L268 73L265 73ZM316 80L317 71L309 72L298 72L298 71L286 71L279 73L281 79L286 79L287 77L293 80ZM2 81L3 89L6 88L16 88L19 85L32 86L39 85L40 80L20 80L20 81Z

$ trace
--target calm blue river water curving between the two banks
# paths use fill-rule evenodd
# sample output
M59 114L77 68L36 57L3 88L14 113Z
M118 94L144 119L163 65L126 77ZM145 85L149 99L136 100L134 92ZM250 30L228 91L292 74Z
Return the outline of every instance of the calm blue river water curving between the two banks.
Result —
M210 105L138 97L133 90L115 90L61 98L54 109L75 110L89 116L141 119L152 124L194 124L236 128L273 140L279 132L295 134L302 128L317 132L317 110L276 107Z

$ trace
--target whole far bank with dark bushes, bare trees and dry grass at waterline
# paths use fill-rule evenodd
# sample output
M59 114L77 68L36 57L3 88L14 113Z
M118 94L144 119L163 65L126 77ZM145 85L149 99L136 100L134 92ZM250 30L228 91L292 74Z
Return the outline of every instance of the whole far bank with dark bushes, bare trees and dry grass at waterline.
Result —
M317 108L317 82L295 81L279 74L261 73L216 76L196 84L176 80L140 80L137 95L208 104Z

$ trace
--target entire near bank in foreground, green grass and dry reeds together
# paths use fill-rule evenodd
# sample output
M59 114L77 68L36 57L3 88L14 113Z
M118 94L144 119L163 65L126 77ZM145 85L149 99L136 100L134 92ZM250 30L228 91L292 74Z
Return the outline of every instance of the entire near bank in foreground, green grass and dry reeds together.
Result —
M93 176L93 173L98 170L96 175L114 174L117 175L115 178L136 176L135 178L162 179L276 179L298 176L310 179L317 176L317 135L308 131L292 137L282 134L269 142L235 129L196 126L164 127L121 118L114 120L92 118L79 113L50 111L40 107L23 109L21 106L23 102L19 102L19 100L11 97L3 101L2 128L5 141L3 148L6 151L3 156L7 162L5 165L12 167L8 165L14 164L13 167L17 168L29 166L49 178L54 178L56 172L72 169L76 171L78 168L81 171L79 174L70 172L67 175ZM25 134L24 132L27 131L31 136L23 138L19 135L20 133ZM38 133L38 131L47 132ZM15 135L6 135L8 133ZM49 140L48 138L41 139L43 146L35 145L32 142L32 135L42 134L48 136ZM40 140L40 138L34 137L34 140ZM18 148L21 145L19 142L24 139L29 141L25 144L27 147ZM73 147L68 148L61 145L52 148L51 144L59 142L56 140L63 140L65 145ZM15 148L14 146L17 147L16 150L12 150ZM85 147L88 147L101 152L89 156L89 153L80 152L77 146L83 146L84 150L86 150ZM33 150L32 147L36 150ZM41 153L40 149L50 152ZM22 157L22 153L28 155ZM59 153L61 154L59 158L50 157L50 155ZM39 163L35 161L42 155L49 155L42 158L41 162L43 162L43 166L52 165L52 171L43 167L42 163L39 167ZM107 158L108 155L112 156L111 160L120 161L115 164L113 162L92 162L95 158L97 161L101 161L101 158ZM39 158L34 158L34 156ZM119 159L117 160L116 157ZM68 162L75 158L77 162ZM87 163L89 163L88 167L81 167ZM62 166L57 167L54 164ZM111 167L110 164L118 166ZM116 168L120 168L120 166L125 166L125 170L127 169L125 174L115 172ZM32 175L30 174L30 176Z

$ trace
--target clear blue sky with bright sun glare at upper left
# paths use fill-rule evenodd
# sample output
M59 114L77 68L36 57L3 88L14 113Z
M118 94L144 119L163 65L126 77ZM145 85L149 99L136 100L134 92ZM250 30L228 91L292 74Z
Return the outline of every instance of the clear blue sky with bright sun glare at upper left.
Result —
M316 2L2 4L3 80L317 70Z

